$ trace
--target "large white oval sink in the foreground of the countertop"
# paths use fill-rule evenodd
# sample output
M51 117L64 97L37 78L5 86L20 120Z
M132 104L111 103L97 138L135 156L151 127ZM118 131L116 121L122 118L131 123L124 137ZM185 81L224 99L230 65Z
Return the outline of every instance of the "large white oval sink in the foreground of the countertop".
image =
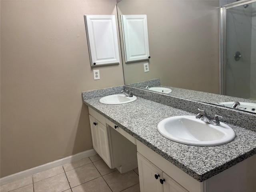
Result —
M217 146L234 140L234 130L220 122L214 126L196 119L196 116L174 116L163 119L157 125L162 136L187 145Z

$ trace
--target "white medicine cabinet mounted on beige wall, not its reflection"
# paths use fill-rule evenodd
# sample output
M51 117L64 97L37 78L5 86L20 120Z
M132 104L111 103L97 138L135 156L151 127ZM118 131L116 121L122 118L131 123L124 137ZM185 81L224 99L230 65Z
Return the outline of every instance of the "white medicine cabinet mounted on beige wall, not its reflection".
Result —
M119 64L116 18L114 15L85 15L91 66Z

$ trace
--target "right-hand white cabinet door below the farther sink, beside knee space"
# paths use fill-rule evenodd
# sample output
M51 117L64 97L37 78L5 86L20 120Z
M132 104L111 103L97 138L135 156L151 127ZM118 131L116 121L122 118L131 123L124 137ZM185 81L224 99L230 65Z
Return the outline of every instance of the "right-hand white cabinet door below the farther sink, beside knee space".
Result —
M98 138L100 144L100 156L106 162L106 164L112 168L111 160L110 160L110 150L109 150L109 142L108 142L108 132L107 128L98 122Z

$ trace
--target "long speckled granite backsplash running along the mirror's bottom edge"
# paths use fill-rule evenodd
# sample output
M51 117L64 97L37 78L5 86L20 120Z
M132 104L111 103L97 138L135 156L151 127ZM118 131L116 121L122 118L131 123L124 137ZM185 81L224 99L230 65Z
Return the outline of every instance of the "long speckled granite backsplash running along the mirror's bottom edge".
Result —
M198 113L198 108L205 110L210 116L215 114L222 115L221 122L226 122L244 128L256 131L256 114L199 102L196 100L189 100L168 94L157 93L140 88L124 86L125 89L132 91L134 95L144 99L152 100L161 104L172 106L174 108L182 109L184 111Z

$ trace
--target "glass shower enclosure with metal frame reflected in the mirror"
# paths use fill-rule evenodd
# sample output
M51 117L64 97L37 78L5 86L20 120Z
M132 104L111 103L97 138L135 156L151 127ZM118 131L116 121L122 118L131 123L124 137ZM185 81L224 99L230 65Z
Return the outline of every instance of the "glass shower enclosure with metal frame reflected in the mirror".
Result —
M256 100L256 0L220 9L221 94Z

